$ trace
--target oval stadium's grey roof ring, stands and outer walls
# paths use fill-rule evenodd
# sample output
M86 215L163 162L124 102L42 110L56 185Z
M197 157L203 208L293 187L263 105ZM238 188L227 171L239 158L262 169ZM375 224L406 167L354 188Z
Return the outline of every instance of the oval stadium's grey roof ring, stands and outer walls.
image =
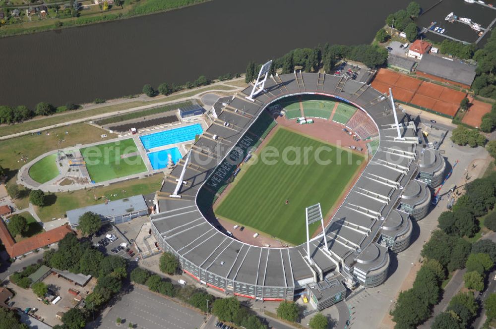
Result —
M257 300L293 300L295 291L305 288L323 296L324 288L320 295L315 289L327 287L321 305L329 306L344 298L344 285L372 287L384 282L389 252L408 247L412 219L422 219L429 210L429 185L437 184L445 168L439 151L422 144L416 126L400 111L398 131L391 102L367 84L295 72L268 78L254 101L246 99L252 89L215 111L215 121L192 146L186 169L183 159L157 193L157 214L150 219L160 248L176 255L183 271L199 282ZM325 234L310 240L310 255L306 244L265 248L238 241L218 224L212 210L238 164L259 143L246 134L259 114L288 96L303 94L332 97L358 108L373 122L378 140ZM171 197L178 181L184 182L180 199Z

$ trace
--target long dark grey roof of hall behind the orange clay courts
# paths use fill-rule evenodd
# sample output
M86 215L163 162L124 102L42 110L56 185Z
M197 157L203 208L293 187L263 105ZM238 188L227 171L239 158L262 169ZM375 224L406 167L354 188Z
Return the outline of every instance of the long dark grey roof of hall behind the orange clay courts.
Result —
M427 54L422 57L417 71L471 86L476 75L475 68L475 65L464 63L459 59L446 59Z

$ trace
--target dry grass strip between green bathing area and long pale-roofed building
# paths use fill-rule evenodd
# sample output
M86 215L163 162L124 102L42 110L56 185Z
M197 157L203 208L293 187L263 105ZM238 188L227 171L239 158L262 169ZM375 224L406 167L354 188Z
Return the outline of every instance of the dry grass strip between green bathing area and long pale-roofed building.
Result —
M53 218L62 218L68 210L101 204L104 197L109 200L118 200L133 195L149 194L160 190L164 176L153 175L142 179L132 179L110 186L93 187L78 191L55 193L48 196L50 205L37 208L36 212L41 220L50 221ZM53 200L55 203L53 203Z

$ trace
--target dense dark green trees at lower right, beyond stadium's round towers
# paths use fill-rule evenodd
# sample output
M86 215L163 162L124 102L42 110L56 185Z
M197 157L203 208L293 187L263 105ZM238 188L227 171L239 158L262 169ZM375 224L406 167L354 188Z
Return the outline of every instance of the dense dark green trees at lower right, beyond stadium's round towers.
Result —
M487 274L496 262L496 243L479 240L471 244L466 238L479 231L479 218L492 211L495 203L496 173L468 183L465 194L457 200L453 209L439 216L439 229L433 232L422 249L424 262L413 287L400 293L391 311L395 328L413 329L431 316L447 273L466 268L463 277L465 287L472 291L484 290ZM496 218L492 220L496 226ZM454 296L446 312L434 319L432 328L469 328L479 308L473 295L459 293Z

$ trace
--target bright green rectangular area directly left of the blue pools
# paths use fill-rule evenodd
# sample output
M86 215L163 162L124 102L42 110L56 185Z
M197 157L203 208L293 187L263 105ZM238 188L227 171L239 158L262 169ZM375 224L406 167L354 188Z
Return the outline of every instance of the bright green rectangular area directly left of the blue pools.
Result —
M146 171L132 138L81 149L91 180L96 183ZM126 156L122 159L121 156Z

